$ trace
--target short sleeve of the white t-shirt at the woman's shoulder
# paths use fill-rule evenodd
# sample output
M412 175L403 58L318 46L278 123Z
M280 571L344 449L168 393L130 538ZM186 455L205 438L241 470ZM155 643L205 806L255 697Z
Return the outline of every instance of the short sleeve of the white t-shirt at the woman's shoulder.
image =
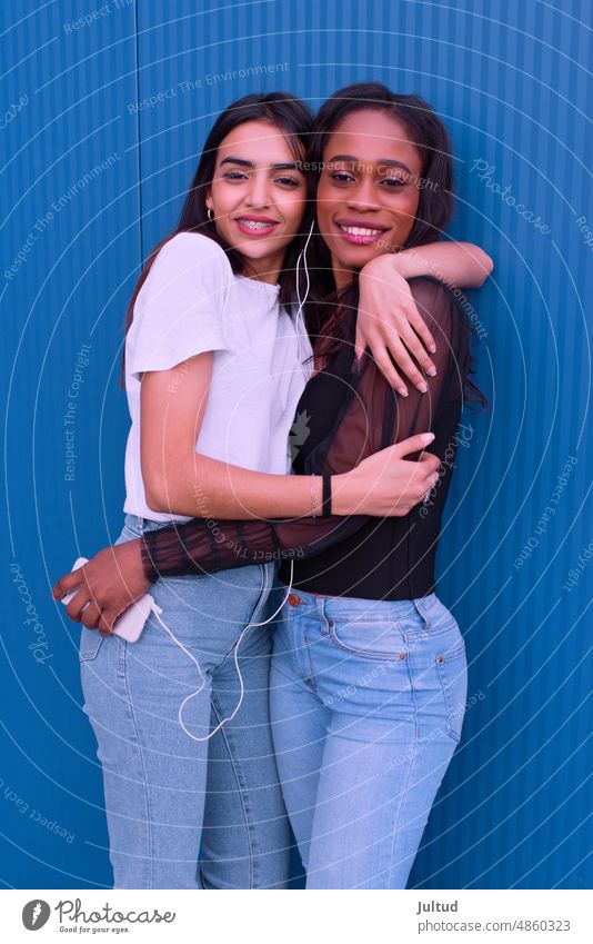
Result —
M224 310L232 269L207 236L180 232L164 244L134 305L125 356L131 372L170 370L208 350L225 350Z

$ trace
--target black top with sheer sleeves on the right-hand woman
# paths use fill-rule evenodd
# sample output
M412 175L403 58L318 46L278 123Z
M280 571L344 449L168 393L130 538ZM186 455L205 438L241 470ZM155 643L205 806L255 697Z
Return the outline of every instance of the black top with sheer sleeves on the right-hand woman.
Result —
M405 517L204 520L173 524L143 536L142 562L151 582L160 576L204 574L279 560L288 583L326 596L413 599L434 590L434 556L449 489L463 384L470 369L469 326L452 292L429 278L410 280L418 308L436 342L436 376L429 391L400 397L369 350L358 360L343 345L306 385L299 403L293 469L336 475L379 449L416 433L435 434L429 449L441 460L428 500Z

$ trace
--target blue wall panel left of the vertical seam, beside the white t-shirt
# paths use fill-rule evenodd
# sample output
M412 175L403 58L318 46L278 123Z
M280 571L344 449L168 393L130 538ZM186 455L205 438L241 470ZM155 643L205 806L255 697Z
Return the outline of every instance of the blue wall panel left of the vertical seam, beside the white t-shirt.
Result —
M1 131L2 878L93 887L108 876L101 772L80 707L80 630L49 588L121 520L128 423L110 371L140 264L138 128L121 107L135 22L129 7L72 29L80 3L38 7L19 4L0 40L2 103L27 100Z

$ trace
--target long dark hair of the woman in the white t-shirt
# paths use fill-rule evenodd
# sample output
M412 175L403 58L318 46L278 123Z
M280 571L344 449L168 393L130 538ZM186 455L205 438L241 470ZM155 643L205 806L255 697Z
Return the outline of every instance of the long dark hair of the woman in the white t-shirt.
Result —
M231 268L235 275L243 271L245 260L241 254L230 246L217 231L214 221L208 219L205 195L214 177L218 149L221 142L239 125L247 121L265 121L280 128L287 136L299 167L303 167L303 153L310 143L313 129L313 115L309 107L296 96L290 92L270 92L268 95L248 95L230 105L218 117L210 131L200 157L198 168L191 181L190 189L183 202L179 222L174 230L161 239L152 249L147 259L144 268L133 290L128 311L125 314L125 332L128 332L133 320L133 308L138 294L147 280L151 266L165 242L177 236L178 232L200 232L208 236L224 249ZM284 257L284 265L280 274L280 302L290 304L295 296L295 264L303 245L303 233L309 231L313 216L313 191L314 178L308 172L306 166L303 170L308 179L308 193L301 231L289 245ZM122 365L122 386L124 381L124 367Z

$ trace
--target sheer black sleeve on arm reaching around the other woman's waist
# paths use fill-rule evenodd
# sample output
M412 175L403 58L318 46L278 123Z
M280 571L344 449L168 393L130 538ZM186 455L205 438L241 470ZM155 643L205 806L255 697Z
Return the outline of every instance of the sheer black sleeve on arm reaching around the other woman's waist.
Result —
M406 398L400 397L369 350L358 361L349 356L343 405L330 433L304 458L304 474L349 471L379 449L434 429L443 405L462 397L469 371L465 316L440 282L418 278L410 287L436 341L432 359L438 374L426 378L429 391L410 389ZM142 563L147 577L154 582L165 575L311 557L354 534L368 520L365 515L244 521L194 518L144 534Z

